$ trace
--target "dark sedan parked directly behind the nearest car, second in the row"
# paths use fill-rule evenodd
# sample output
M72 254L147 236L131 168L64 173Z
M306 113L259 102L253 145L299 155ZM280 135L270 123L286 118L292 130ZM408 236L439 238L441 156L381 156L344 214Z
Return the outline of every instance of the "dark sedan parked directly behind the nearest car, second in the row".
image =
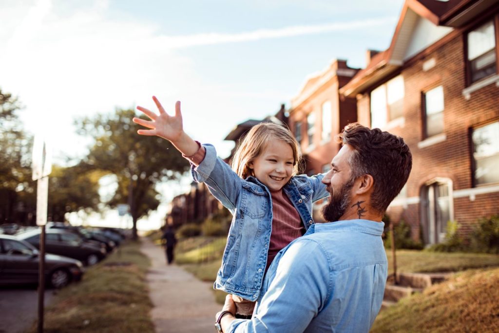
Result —
M39 229L30 230L16 236L39 248L40 232ZM98 263L106 256L104 248L84 242L80 237L59 229L45 231L45 252L77 259L88 266Z

